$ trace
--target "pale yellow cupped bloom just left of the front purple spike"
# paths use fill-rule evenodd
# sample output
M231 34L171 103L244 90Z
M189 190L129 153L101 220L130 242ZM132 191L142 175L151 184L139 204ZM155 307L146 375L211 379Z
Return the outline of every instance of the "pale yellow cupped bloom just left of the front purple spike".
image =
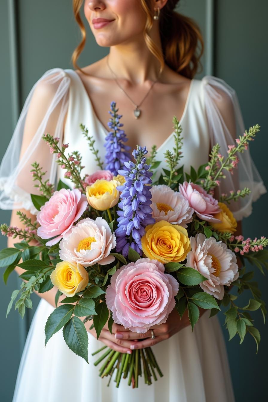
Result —
M117 180L96 180L91 186L87 186L86 198L89 205L98 211L114 207L119 200L117 186Z

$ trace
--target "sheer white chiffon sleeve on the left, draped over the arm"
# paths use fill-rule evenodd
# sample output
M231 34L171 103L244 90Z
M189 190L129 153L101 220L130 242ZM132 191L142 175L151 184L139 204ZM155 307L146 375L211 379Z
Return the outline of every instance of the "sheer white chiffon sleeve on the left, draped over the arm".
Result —
M0 166L1 209L24 208L37 213L30 195L40 194L30 173L33 162L39 162L46 171L44 179L55 182L55 154L50 153L42 135L50 133L61 141L69 86L70 77L65 70L53 68L29 92Z

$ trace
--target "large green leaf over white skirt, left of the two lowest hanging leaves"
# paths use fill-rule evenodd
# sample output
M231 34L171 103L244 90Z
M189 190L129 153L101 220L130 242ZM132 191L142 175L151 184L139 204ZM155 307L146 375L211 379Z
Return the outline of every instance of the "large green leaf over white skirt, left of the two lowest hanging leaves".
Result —
M51 336L70 320L73 312L74 306L72 304L63 304L53 310L45 324L45 345Z

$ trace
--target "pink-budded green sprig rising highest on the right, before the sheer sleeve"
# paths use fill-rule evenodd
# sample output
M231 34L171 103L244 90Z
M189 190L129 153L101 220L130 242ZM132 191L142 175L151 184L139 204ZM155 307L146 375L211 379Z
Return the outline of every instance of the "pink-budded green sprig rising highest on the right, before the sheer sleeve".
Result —
M227 170L231 174L233 174L233 169L237 168L237 164L239 162L239 158L237 157L237 152L243 153L248 149L249 141L254 141L254 137L256 133L260 131L260 126L258 124L250 127L243 135L239 135L239 138L235 139L235 145L228 145L227 154L228 156L225 158L220 154L220 146L216 144L213 146L210 156L209 163L207 165L207 178L203 183L203 187L206 191L209 191L218 185L218 180L220 178L226 178L223 173L223 170ZM245 190L245 189L244 189ZM239 197L242 195L246 195L245 192L239 193Z

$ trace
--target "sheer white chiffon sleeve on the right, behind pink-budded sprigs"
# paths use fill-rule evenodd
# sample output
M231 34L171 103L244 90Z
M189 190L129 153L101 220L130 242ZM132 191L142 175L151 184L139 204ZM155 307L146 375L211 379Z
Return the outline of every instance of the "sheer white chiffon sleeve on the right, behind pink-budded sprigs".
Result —
M237 145L235 138L245 132L237 94L224 80L214 76L203 77L202 85L211 147L218 143L221 147L220 153L226 157L228 145ZM250 150L239 153L237 156L238 168L234 169L233 174L226 172L226 179L221 179L219 193L228 194L230 190L250 188L250 195L240 198L237 203L231 202L228 205L235 219L241 220L252 213L252 202L267 190L250 156Z

